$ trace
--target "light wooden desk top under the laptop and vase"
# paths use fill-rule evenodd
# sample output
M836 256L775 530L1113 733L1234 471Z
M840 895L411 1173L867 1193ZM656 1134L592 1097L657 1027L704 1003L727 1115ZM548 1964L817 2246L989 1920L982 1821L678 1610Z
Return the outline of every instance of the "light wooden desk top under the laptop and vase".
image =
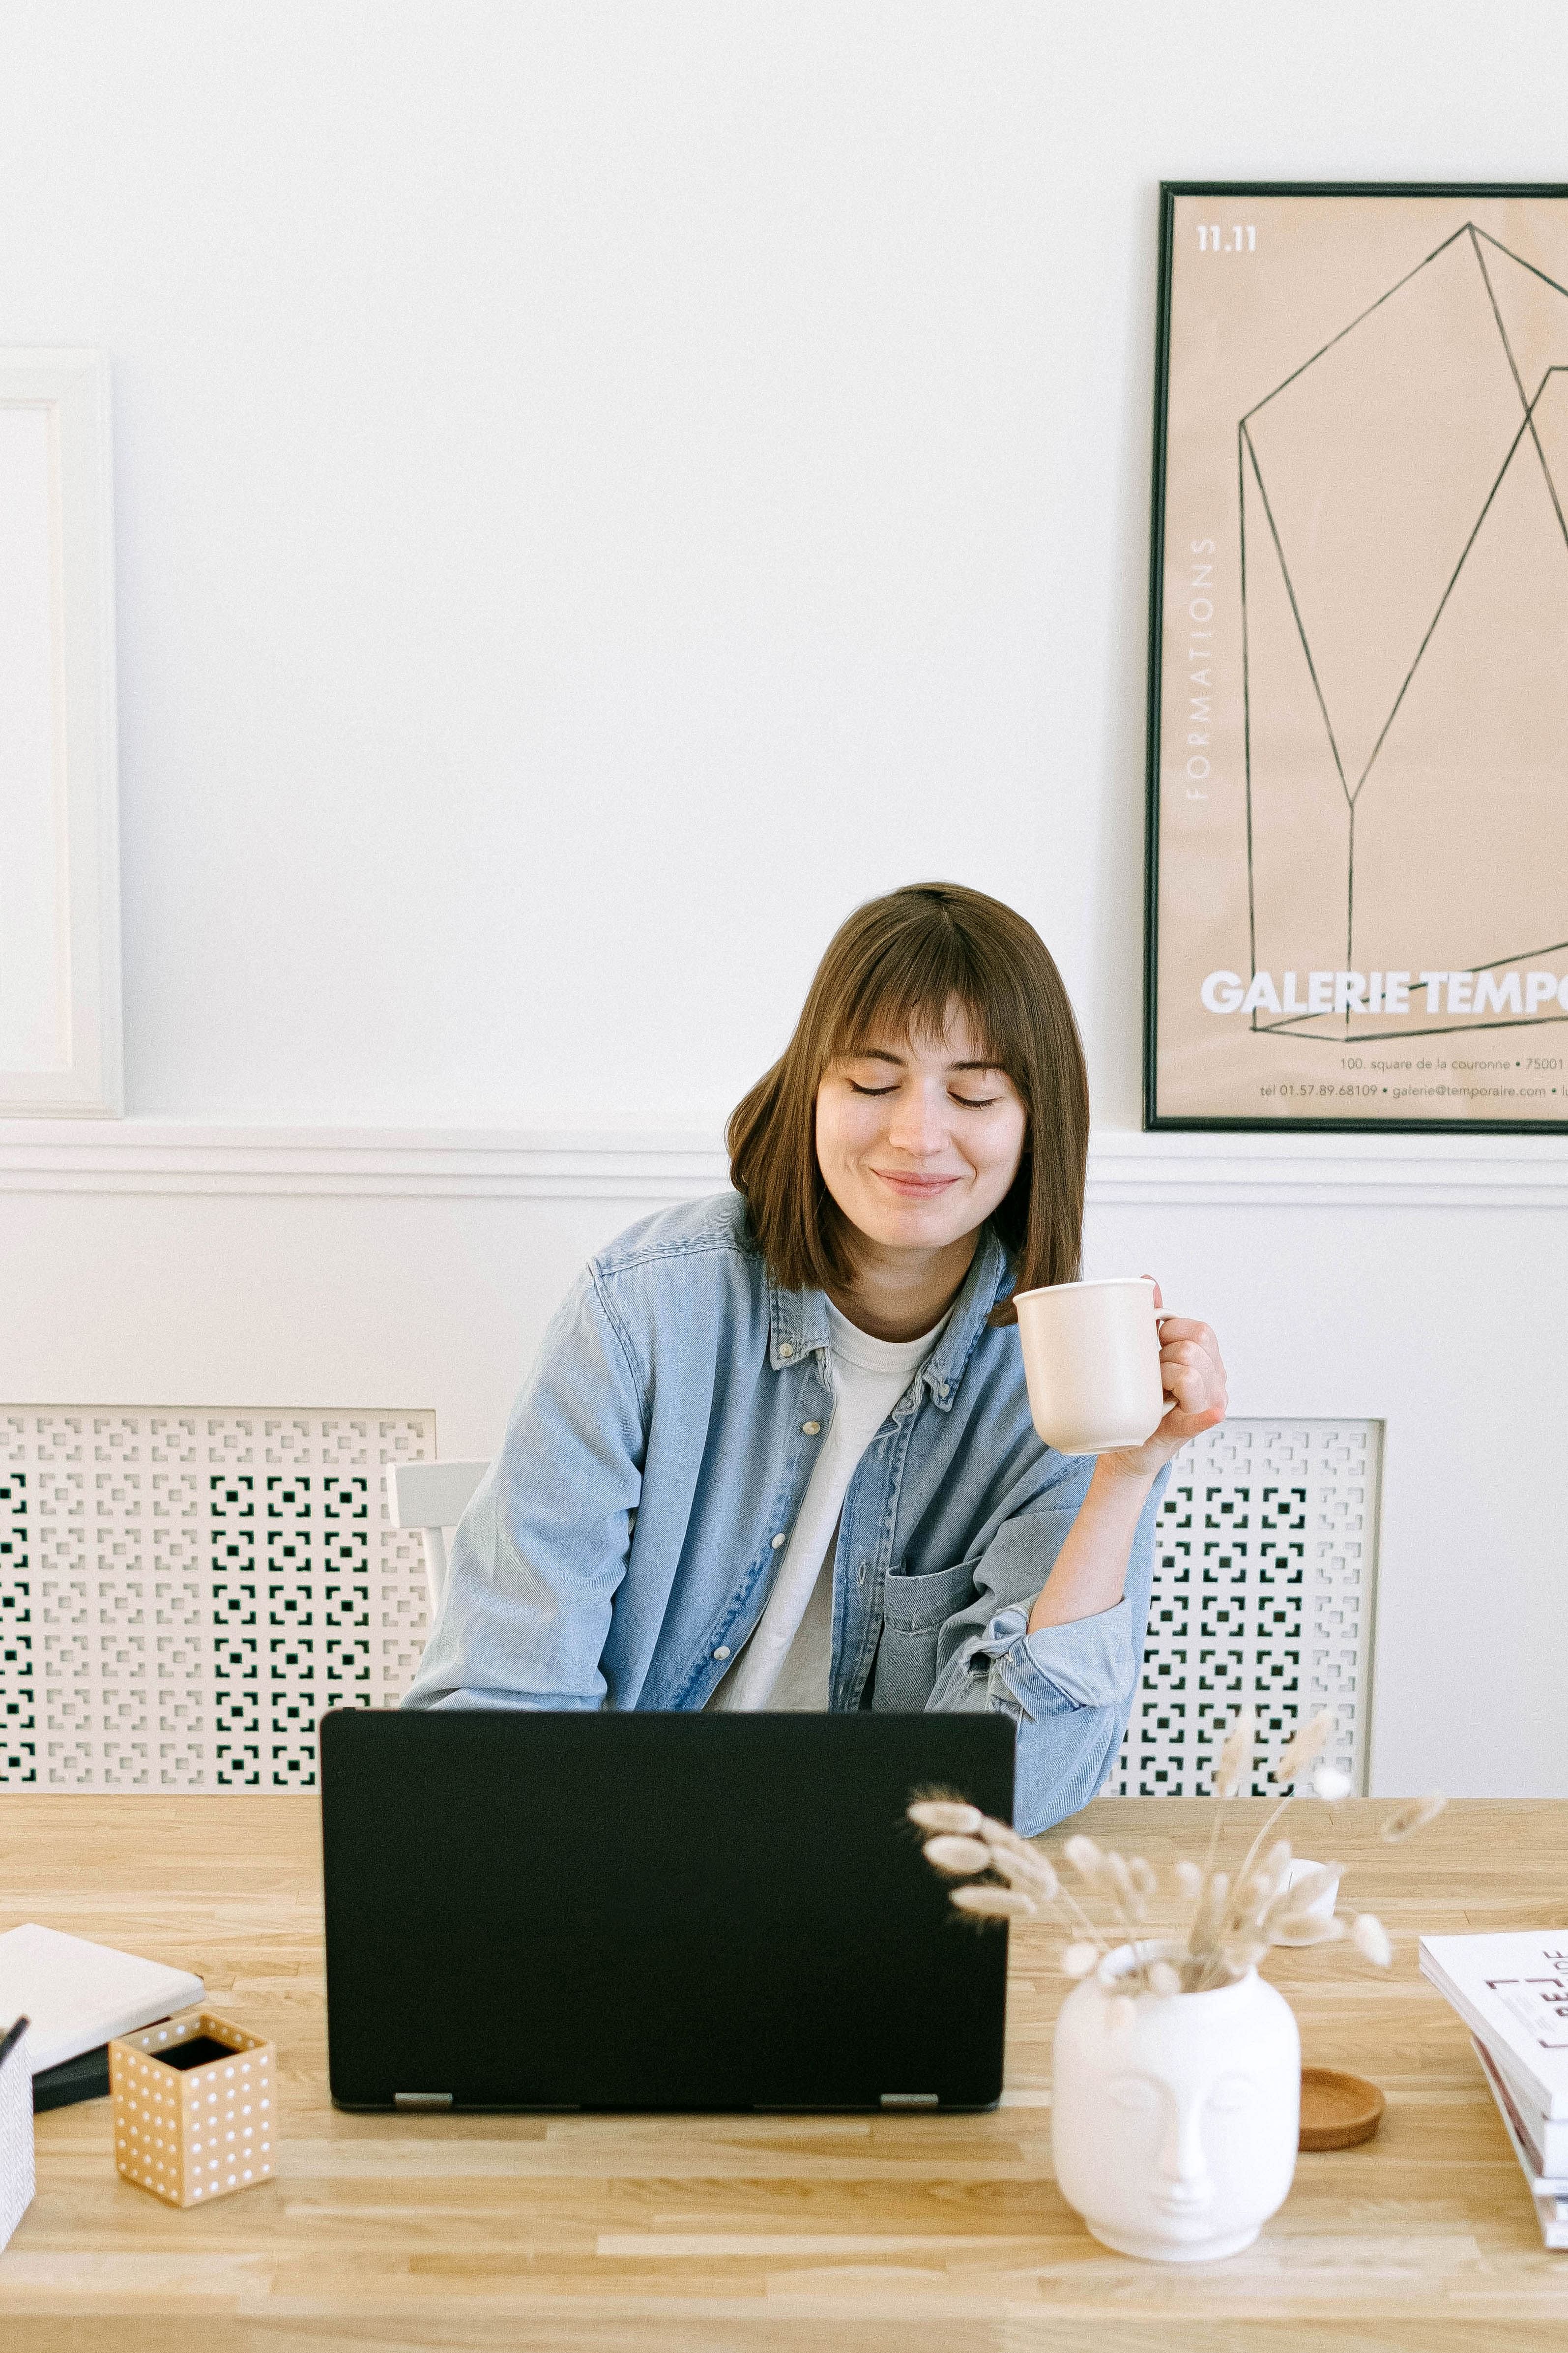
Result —
M108 2101L38 2120L38 2200L0 2254L0 2344L724 2353L1500 2353L1568 2346L1547 2254L1418 1929L1568 1920L1568 1805L1455 1805L1403 1847L1378 1802L1295 1807L1396 1937L1279 1953L1307 2061L1387 2092L1366 2148L1302 2158L1262 2240L1175 2268L1107 2254L1051 2177L1058 1944L1013 1932L1009 2092L969 2118L378 2118L327 2099L317 1812L308 1798L0 1798L0 1927L47 1920L200 1969L275 2038L277 2181L169 2212L110 2162ZM1237 1805L1237 1826L1258 1805ZM1208 1807L1103 1800L1095 1835L1164 1861ZM1048 1845L1056 1845L1053 1838Z

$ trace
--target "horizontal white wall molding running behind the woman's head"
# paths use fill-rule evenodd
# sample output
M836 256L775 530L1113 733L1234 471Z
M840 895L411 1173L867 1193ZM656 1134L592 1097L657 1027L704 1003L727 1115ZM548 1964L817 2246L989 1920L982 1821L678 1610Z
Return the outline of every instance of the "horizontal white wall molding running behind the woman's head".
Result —
M691 1200L726 1160L703 1134L2 1120L0 1193L346 1200ZM1563 1136L1213 1136L1098 1129L1091 1207L1568 1205Z

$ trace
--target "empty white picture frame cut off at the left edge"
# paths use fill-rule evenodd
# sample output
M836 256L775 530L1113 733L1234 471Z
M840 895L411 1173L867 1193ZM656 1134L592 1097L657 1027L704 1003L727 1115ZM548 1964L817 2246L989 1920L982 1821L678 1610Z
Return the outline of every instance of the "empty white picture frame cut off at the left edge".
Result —
M0 351L0 1113L122 1108L113 616L108 365Z

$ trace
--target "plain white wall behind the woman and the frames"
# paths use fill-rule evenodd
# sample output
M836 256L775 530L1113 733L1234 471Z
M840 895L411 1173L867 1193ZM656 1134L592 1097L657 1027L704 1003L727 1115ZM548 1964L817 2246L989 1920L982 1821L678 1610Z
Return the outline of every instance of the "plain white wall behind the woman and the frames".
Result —
M919 875L1041 927L1135 1127L1154 184L1549 179L1566 68L1509 0L0 0L0 339L115 372L132 1136L712 1136ZM0 1395L454 1452L646 1205L47 1144ZM1389 1419L1378 1779L1568 1791L1559 1148L1312 1207L1312 1146L1255 1198L1131 1151L1095 1261L1241 1412Z

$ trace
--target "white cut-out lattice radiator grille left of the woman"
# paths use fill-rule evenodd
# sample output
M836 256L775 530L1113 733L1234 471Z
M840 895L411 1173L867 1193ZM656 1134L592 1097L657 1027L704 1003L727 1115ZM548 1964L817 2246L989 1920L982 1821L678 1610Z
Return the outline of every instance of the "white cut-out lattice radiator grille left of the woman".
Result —
M315 1791L425 1642L428 1412L0 1407L0 1788Z

